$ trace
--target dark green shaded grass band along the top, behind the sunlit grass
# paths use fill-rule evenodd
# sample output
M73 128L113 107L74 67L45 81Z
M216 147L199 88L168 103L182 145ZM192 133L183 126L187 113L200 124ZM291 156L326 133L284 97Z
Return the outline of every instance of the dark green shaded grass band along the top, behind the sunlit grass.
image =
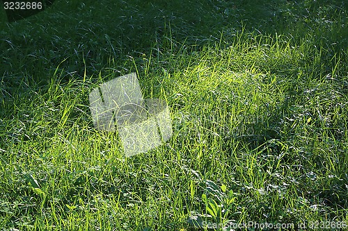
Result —
M199 49L219 42L221 33L234 35L244 27L293 37L314 33L318 45L335 43L337 52L348 37L342 29L332 31L332 24L344 20L341 10L342 1L56 1L45 12L8 24L1 33L5 52L0 71L8 78L24 73L42 80L43 73L49 78L47 70L68 58L62 67L70 76L81 76L85 64L95 73L108 65L110 56L122 63L127 55L159 55L182 44Z

